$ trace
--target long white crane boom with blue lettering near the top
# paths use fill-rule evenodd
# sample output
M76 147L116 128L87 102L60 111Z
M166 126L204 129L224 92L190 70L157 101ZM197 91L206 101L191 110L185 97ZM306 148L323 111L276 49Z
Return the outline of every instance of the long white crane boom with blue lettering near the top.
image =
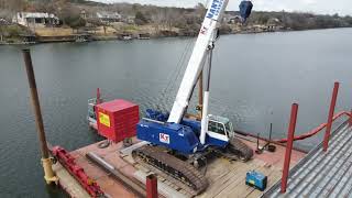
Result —
M208 45L213 42L215 32L222 19L228 2L229 0L211 1L167 122L179 123L183 119L198 76L202 70Z

